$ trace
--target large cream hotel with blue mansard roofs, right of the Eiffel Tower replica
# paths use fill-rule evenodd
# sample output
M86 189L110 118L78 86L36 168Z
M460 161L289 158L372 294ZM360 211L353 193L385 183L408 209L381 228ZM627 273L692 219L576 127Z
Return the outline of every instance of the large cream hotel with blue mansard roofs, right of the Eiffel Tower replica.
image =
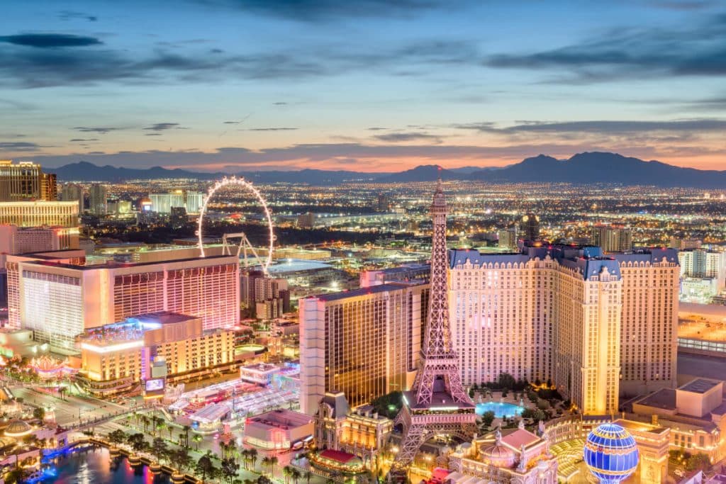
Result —
M552 380L584 414L675 382L677 251L600 247L449 254L454 348L465 385Z

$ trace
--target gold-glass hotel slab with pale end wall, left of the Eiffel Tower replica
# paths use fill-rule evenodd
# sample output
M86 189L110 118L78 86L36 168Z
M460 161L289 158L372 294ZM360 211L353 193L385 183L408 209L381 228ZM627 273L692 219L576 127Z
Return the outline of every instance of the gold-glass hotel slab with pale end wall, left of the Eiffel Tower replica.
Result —
M428 284L380 284L301 299L301 410L314 414L329 392L351 406L413 383Z

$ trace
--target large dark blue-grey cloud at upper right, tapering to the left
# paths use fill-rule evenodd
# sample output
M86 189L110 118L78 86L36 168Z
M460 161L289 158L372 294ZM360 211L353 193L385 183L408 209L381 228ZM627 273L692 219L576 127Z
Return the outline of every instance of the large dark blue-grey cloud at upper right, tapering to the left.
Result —
M553 82L592 83L619 78L726 74L726 15L688 30L621 29L577 44L526 54L496 54L484 65L544 70ZM566 70L570 77L559 73Z

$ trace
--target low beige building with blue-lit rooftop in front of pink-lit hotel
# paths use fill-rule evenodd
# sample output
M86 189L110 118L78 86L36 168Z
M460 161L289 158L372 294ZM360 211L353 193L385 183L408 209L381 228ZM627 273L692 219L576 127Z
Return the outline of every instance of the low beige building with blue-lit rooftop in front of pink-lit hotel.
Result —
M184 380L234 363L234 331L205 331L199 317L160 311L86 329L81 375L94 393L147 380Z

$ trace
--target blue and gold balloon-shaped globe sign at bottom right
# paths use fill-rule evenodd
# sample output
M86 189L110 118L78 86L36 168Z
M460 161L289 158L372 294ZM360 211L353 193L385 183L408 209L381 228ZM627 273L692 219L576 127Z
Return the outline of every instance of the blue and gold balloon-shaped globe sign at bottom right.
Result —
M635 438L627 430L605 423L587 435L583 458L601 484L617 484L635 472L640 455Z

